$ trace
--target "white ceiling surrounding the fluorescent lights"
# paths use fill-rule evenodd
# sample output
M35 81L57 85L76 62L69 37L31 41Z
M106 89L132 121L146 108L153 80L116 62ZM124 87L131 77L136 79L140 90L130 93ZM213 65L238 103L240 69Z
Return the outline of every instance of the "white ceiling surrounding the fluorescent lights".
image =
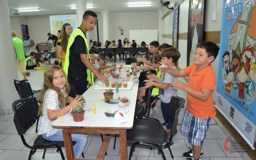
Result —
M172 1L172 0L171 0ZM152 4L151 7L127 7L127 4L145 3ZM172 3L172 2L171 2ZM75 0L8 0L10 16L31 16L31 15L58 15L76 14L71 6L76 6ZM161 10L158 0L87 0L87 5L93 5L88 9L97 13L107 10L111 13L131 12L157 12ZM13 10L40 8L40 11L20 12L20 15L13 15Z

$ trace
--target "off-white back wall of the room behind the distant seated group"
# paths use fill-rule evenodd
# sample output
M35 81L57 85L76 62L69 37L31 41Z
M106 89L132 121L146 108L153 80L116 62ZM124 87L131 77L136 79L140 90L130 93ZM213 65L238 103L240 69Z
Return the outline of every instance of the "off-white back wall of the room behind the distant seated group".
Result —
M102 14L98 13L99 23L99 38L100 42L106 40L102 39ZM124 38L128 38L129 41L129 30L158 30L158 13L119 13L109 15L110 23L110 39L109 41L115 40L117 43L118 39L123 41ZM47 33L50 32L50 18L49 15L39 16L27 16L27 17L11 17L11 29L14 30L17 35L20 35L22 39L21 25L28 25L29 35L35 43L45 42L48 39ZM78 24L79 26L80 24ZM144 26L144 28L143 28ZM122 27L123 35L121 35L118 27ZM97 40L97 27L93 31L89 32L89 38L93 41ZM136 41L136 40L135 40ZM146 43L147 42L145 40ZM138 42L140 43L140 42Z

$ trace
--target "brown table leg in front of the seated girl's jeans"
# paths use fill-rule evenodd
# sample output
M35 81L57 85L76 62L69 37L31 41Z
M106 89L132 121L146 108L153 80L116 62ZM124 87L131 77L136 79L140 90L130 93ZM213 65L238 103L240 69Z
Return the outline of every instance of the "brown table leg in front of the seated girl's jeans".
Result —
M74 155L74 150L72 145L71 133L68 133L67 128L62 128L62 133L63 133L63 139L64 139L64 144L66 149L67 160L74 160L75 155Z

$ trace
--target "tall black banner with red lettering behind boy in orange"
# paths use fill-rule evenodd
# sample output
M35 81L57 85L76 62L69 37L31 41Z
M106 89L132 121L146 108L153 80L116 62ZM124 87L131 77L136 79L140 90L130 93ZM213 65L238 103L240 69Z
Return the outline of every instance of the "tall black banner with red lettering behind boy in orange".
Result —
M205 0L189 1L187 66L194 63L196 45L203 42L203 21Z

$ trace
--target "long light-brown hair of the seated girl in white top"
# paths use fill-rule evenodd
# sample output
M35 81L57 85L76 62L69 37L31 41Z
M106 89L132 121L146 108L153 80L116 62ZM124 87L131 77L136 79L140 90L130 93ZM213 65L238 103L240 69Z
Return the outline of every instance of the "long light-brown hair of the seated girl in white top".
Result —
M61 70L64 73L65 78L66 78L66 84L64 85L64 89L65 89L64 93L62 93L58 88L56 88L53 85L54 73L56 71L59 71L59 70ZM42 92L41 92L40 105L39 105L39 109L38 109L38 116L43 116L43 112L42 112L42 110L43 110L43 102L44 102L45 92L48 89L52 89L52 90L56 91L56 93L58 95L59 103L60 103L60 108L64 108L65 104L67 102L68 92L70 91L70 86L67 83L67 75L66 75L66 73L58 65L52 65L50 67L47 67L46 70L45 70L44 84L43 84L43 89L42 89ZM67 95L66 98L65 98L65 95Z

